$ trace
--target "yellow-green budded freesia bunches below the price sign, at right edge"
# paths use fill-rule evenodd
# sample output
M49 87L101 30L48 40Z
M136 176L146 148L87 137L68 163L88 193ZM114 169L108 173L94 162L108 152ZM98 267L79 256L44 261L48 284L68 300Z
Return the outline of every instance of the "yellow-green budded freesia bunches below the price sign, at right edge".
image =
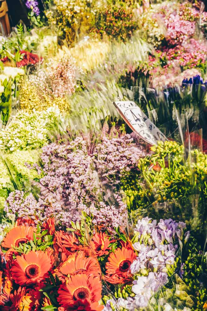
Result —
M132 216L182 220L196 229L207 218L207 155L197 149L186 158L176 142L158 142L152 156L139 160L141 174L122 180Z

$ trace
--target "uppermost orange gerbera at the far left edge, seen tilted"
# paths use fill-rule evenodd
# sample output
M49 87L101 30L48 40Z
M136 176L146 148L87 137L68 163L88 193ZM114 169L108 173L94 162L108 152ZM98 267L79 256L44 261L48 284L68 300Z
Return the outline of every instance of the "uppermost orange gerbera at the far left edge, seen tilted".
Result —
M2 246L5 248L19 247L20 243L33 240L35 228L31 226L17 226L11 229L3 239Z

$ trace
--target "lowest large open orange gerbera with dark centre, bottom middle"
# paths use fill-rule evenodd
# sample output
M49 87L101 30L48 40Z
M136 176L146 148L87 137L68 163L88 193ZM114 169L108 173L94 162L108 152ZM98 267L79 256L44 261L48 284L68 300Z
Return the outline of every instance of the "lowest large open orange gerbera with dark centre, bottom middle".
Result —
M76 274L61 285L58 290L57 300L60 304L67 308L74 304L77 300L88 299L92 303L101 299L101 281L95 276L87 276L86 274Z

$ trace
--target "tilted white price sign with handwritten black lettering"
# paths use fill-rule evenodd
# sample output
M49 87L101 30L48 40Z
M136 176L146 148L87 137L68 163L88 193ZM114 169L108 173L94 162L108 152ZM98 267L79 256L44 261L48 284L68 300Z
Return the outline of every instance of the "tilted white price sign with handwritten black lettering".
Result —
M167 138L133 101L115 101L113 103L128 126L143 140L151 145Z

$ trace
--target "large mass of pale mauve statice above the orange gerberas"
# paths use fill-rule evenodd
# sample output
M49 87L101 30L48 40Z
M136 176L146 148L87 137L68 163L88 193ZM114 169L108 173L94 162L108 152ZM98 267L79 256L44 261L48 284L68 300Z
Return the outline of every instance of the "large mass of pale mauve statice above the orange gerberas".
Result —
M42 222L54 216L56 224L69 227L85 211L92 216L93 225L113 231L126 220L127 207L119 192L113 194L112 188L124 172L137 169L138 174L137 161L146 156L146 151L138 142L133 143L129 134L119 131L116 138L105 136L101 141L91 152L82 137L67 144L43 147L44 177L36 183L41 193L38 201L31 193L28 196L20 191L11 193L5 205L7 214L18 212L22 218Z

